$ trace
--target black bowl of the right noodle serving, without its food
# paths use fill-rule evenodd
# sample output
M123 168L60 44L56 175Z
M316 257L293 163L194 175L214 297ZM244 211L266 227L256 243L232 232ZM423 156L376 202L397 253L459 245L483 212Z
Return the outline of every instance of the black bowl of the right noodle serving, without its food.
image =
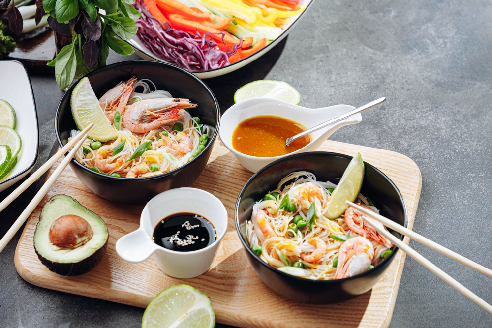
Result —
M330 304L354 298L368 292L383 276L398 249L365 273L338 280L310 280L283 273L266 264L249 248L240 225L251 219L253 205L278 182L295 171L314 173L318 181L338 183L352 157L332 152L305 152L279 159L258 171L239 194L235 209L236 230L246 251L246 257L260 279L285 298L302 303ZM381 215L407 225L406 206L398 188L381 171L364 162L366 172L362 194L370 197ZM392 232L402 239L402 236Z

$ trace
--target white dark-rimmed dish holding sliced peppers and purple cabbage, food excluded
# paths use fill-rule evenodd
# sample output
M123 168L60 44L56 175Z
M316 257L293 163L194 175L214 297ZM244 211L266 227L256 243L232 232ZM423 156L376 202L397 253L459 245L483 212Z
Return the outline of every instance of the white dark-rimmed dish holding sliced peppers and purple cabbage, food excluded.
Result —
M309 9L309 6L313 2L314 2L314 0L304 0L303 3L302 3L302 5L304 5L306 7L306 9L302 13L299 13L299 14L296 15L297 18L295 18L295 20L292 22L292 24L288 28L286 28L282 32L282 34L280 34L274 41L272 41L269 44L267 44L267 46L265 48L261 49L257 53L255 53L255 54L253 54L253 55L251 55L249 57L246 57L243 60L236 61L235 63L233 63L231 65L227 65L225 67L210 69L208 71L200 71L200 72L194 71L194 72L191 72L191 73L193 73L194 75L196 75L200 79L208 79L208 78L213 78L213 77L216 77L216 76L221 76L221 75L224 75L224 74L233 72L236 69L239 69L239 68L241 68L243 66L246 66L247 64L249 64L253 60L257 60L261 56L265 55L268 51L270 51L270 49L272 49L273 47L275 47L278 42L280 42L284 37L287 36L287 34L289 34L289 32L294 27L294 25L296 25L297 22L299 22L299 20L301 19L301 17L303 17L303 15L306 13L307 9ZM296 16L293 16L293 17L296 17ZM142 41L140 41L140 39L138 38L138 36L135 36L133 39L131 39L129 41L124 41L124 42L126 42L130 46L132 46L132 48L135 50L135 54L137 54L142 59L167 62L167 61L163 60L160 56L155 55L152 51L150 51L142 43Z

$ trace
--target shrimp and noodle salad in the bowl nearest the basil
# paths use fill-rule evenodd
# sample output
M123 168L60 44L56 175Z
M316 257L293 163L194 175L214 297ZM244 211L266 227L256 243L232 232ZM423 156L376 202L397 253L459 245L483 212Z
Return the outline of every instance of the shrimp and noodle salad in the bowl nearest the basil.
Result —
M135 92L139 87L142 92ZM196 157L208 142L208 126L200 125L200 118L185 109L197 104L156 89L152 81L133 77L106 92L99 104L118 137L104 143L87 139L75 159L113 177L145 178L177 169ZM78 133L72 130L70 136Z

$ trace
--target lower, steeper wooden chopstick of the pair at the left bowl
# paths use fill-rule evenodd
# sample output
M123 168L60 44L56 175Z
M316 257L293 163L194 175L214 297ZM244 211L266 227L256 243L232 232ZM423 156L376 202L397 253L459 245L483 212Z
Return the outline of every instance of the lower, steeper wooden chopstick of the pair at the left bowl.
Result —
M15 233L19 228L24 224L24 222L27 220L29 215L31 215L32 211L36 208L36 206L39 204L39 202L43 199L44 195L48 192L48 190L51 188L53 183L55 183L56 179L60 177L62 174L63 170L65 167L68 165L68 163L72 160L73 156L77 152L77 150L82 147L84 144L84 141L87 138L87 133L84 133L82 139L75 145L75 147L70 150L68 155L63 159L62 163L57 167L55 172L50 176L48 180L43 184L41 189L37 192L37 194L34 196L34 198L31 200L31 202L28 204L28 206L22 211L21 215L17 218L17 220L14 222L12 227L7 231L5 236L0 240L0 252L5 248L5 246L8 244L10 239L14 237Z

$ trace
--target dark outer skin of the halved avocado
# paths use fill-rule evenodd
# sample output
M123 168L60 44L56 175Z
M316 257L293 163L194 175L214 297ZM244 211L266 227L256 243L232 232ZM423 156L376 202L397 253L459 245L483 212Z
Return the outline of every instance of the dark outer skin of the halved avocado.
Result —
M52 199L54 199L57 196L60 196L63 194L55 195L51 197L48 202L46 202L45 206L50 203ZM63 195L66 197L70 197L67 195ZM72 198L72 197L70 197ZM73 198L72 198L73 199ZM86 207L82 206L79 202L77 202L80 207L87 209ZM89 209L87 209L89 210ZM91 211L91 210L89 210ZM43 211L41 210L41 213ZM92 211L91 211L92 212ZM92 212L94 213L94 212ZM94 213L95 214L95 213ZM97 214L96 214L97 215ZM39 215L39 221L41 221L41 214ZM39 221L38 221L38 226L39 226ZM102 219L101 219L102 221ZM104 222L104 221L103 221ZM36 226L36 231L38 226ZM34 231L34 236L36 235L36 231ZM109 240L109 233L106 236L106 242L104 245L99 248L97 251L95 251L91 256L82 259L81 261L78 262L72 262L72 263L59 263L59 262L54 262L51 260L46 259L43 257L37 250L36 248L36 243L34 242L34 251L37 254L37 257L41 261L43 265L46 266L46 268L50 269L50 271L55 272L57 274L60 274L62 276L77 276L77 275L82 275L85 274L89 271L91 271L93 268L95 268L99 262L101 262L104 254L106 253L106 247L108 246L108 240Z

